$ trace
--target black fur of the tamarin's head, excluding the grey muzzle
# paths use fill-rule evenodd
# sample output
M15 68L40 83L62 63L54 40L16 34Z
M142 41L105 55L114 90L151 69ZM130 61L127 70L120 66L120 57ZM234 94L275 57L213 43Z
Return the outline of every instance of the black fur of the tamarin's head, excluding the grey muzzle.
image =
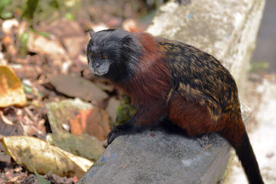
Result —
M87 45L87 57L95 53L105 54L111 61L109 72L100 77L118 83L133 75L141 52L132 34L120 29L109 29L91 34L91 38Z

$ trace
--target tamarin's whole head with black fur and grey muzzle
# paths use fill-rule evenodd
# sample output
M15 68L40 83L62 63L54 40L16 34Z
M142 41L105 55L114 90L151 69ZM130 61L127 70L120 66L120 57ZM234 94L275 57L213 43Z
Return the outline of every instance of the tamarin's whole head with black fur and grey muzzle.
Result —
M87 45L90 70L95 76L117 82L130 77L140 56L140 46L135 34L121 29L99 32L89 30Z

